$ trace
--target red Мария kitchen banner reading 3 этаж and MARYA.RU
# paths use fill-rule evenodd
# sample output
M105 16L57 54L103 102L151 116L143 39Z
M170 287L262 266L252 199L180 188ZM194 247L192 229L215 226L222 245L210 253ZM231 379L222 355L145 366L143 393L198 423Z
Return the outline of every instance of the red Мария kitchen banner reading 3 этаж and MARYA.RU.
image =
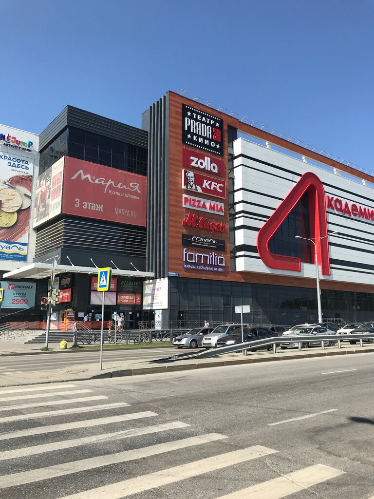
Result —
M62 212L145 227L147 177L66 158Z

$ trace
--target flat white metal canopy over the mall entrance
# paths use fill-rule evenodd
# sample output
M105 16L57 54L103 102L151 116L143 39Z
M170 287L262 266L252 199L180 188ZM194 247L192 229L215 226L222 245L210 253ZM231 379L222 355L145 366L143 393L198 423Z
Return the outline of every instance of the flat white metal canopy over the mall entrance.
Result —
M75 265L59 265L57 264L54 269L54 274L64 274L74 272L78 274L97 274L97 267L79 267ZM52 272L52 263L31 263L25 267L17 268L3 274L3 279L45 279L50 277ZM126 270L122 268L112 268L112 275L121 275L128 277L148 277L152 279L155 277L154 272L140 272L134 270Z

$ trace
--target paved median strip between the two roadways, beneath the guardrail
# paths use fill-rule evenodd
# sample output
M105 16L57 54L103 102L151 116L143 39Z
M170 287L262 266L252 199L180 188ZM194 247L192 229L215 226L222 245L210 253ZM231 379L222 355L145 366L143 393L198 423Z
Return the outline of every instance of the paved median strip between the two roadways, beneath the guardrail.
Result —
M99 361L91 364L75 365L61 369L48 371L31 371L15 374L0 374L0 387L32 385L39 383L57 383L67 381L86 381L92 379L112 378L119 376L138 376L140 374L167 373L173 371L186 371L206 367L230 366L240 364L253 364L257 362L272 362L292 359L310 359L314 357L329 357L333 355L349 355L358 353L374 352L374 346L343 344L341 349L336 347L311 348L299 352L298 350L278 351L276 354L264 351L248 353L244 356L239 353L231 353L210 359L191 360L128 360L128 361L105 361L103 370L99 369Z

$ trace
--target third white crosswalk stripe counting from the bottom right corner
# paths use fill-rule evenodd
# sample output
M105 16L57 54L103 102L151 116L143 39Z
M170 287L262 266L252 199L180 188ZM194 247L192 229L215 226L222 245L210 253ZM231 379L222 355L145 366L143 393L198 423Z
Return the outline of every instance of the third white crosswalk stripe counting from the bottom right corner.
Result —
M81 459L79 461L71 461L70 463L62 463L54 466L47 466L45 468L13 473L11 475L3 475L0 477L0 489L40 482L41 480L49 480L60 476L65 477L71 473L79 473L81 471L101 468L102 466L144 459L150 456L176 451L178 449L186 449L187 447L193 447L195 445L223 440L225 438L227 438L225 435L220 435L219 433L208 433L207 435L198 435L197 437L189 437L173 442L150 445L149 447L142 447L131 451L117 452L116 454L107 454L95 458Z

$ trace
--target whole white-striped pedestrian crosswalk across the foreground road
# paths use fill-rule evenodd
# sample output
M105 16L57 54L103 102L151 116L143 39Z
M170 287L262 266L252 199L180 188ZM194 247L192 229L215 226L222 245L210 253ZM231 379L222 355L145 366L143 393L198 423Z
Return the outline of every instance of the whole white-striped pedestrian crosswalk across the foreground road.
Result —
M88 395L76 397L77 392ZM182 483L183 498L193 498L196 480L206 487L222 476L226 484L239 469L244 482L217 489L221 492L212 499L297 499L310 491L304 499L315 497L315 486L334 483L345 473L309 463L281 476L274 471L261 482L258 474L251 476L251 463L263 465L268 474L266 460L281 456L281 450L256 442L238 447L224 434L198 432L190 422L134 410L126 394L111 401L92 392L67 383L0 390L0 497L121 499L153 491L153 498L164 499L169 497L165 488Z

